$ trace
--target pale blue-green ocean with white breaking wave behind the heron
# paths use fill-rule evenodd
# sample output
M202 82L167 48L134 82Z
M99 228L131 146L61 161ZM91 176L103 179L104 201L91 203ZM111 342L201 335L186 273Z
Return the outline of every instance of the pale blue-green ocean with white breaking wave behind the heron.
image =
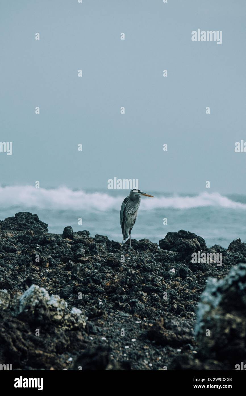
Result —
M147 192L155 198L142 197L132 238L158 243L167 232L184 229L202 236L207 246L227 248L235 238L246 242L246 196ZM28 211L47 223L49 232L61 234L71 226L74 231L88 230L91 236L102 234L122 242L120 206L128 194L128 190L0 187L0 219Z

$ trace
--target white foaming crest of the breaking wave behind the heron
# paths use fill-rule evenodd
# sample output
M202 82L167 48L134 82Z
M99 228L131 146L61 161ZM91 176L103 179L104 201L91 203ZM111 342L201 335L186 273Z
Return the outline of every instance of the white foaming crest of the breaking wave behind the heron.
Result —
M126 192L124 192L124 195L119 192L118 196L112 196L102 192L73 191L67 187L45 189L33 186L7 186L0 187L0 207L4 209L18 206L23 208L21 210L28 208L84 209L90 212L118 210L126 194ZM203 192L195 196L142 197L140 210L160 208L190 209L205 206L246 209L246 204L235 202L219 193Z

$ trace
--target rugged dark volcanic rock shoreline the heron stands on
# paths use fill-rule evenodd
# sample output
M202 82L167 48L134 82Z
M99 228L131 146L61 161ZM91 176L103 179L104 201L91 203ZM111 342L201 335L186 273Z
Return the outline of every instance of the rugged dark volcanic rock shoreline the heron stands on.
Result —
M234 370L246 363L246 244L159 246L0 221L0 364L13 370ZM192 263L221 253L222 266ZM242 263L242 264L241 264ZM208 278L213 279L208 279Z

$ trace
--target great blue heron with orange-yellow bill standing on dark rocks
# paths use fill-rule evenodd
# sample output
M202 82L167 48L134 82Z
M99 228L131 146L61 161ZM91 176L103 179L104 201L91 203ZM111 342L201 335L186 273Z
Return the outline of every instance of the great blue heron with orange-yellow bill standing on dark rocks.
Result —
M131 247L131 230L135 224L137 218L137 210L141 202L141 195L146 197L153 197L153 195L146 194L141 190L131 190L128 197L124 199L120 208L120 225L122 229L122 245L124 240L130 235L130 247Z

